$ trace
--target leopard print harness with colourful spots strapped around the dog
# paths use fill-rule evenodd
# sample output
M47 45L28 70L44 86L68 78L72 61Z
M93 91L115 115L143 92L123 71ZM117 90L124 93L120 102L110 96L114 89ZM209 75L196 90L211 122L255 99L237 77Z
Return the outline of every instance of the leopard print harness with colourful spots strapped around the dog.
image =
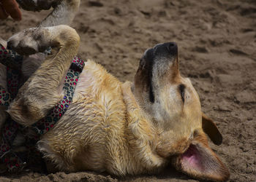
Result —
M48 50L50 52L50 50ZM24 83L21 80L20 68L23 63L23 56L18 53L6 49L0 44L0 63L7 66L7 89L0 85L0 106L8 109L12 100L18 93L18 89ZM42 134L48 132L56 122L59 121L61 116L69 108L72 103L72 97L75 92L75 87L78 84L80 73L83 71L85 63L78 57L73 58L69 71L64 79L64 98L49 111L49 114L43 119L33 124L31 127L24 127L15 122L10 116L7 117L2 127L2 136L0 143L0 159L7 166L8 171L14 172L23 170L26 163L30 160L42 161L42 155L35 148L37 141ZM34 135L27 135L29 130L34 130ZM20 154L12 150L12 143L15 137L21 132L26 138L26 152L27 154Z

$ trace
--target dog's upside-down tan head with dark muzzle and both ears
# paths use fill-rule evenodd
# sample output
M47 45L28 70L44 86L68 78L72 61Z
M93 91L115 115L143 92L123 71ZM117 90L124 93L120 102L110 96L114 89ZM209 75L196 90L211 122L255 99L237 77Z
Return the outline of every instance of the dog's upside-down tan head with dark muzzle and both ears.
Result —
M222 135L201 111L200 99L179 72L178 47L169 42L146 50L135 75L136 100L158 133L156 152L196 178L227 180L229 172L208 146Z

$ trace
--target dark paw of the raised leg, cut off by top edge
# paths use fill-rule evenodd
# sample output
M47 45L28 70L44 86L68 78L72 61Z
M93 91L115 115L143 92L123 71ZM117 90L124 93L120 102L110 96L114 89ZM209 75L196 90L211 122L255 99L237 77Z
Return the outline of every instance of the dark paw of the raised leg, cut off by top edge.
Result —
M56 7L59 4L57 0L16 0L20 7L27 11L41 11L43 9L50 9L50 7Z

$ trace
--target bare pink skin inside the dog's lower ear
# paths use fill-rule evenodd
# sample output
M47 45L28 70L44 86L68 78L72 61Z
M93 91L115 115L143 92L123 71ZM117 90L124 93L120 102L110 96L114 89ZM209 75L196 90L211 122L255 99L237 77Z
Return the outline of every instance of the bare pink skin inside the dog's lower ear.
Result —
M183 165L189 168L195 168L197 170L203 170L203 164L201 163L202 159L199 151L194 145L190 145L189 149L181 155L181 162Z

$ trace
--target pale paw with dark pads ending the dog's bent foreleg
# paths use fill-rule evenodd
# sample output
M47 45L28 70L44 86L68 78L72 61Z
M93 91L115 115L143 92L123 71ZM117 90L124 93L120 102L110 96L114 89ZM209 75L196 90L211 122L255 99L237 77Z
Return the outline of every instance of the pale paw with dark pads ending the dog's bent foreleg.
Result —
M47 47L42 46L43 31L40 28L28 28L11 36L7 48L15 50L20 55L34 55L43 52Z

